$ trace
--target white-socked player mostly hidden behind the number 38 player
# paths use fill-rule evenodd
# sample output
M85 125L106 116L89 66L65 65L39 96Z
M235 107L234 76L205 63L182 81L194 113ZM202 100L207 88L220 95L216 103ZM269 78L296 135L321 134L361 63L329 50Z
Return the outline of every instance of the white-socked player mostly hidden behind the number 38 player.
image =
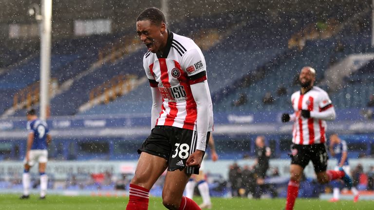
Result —
M210 157L213 161L218 160L218 155L214 145L213 136L210 135L208 145L211 151ZM210 201L209 186L206 182L206 174L204 173L204 161L200 167L200 173L198 175L191 175L191 178L186 185L186 197L192 199L193 192L197 183L197 189L199 189L200 195L203 198L203 203L199 205L202 209L211 209L212 203Z

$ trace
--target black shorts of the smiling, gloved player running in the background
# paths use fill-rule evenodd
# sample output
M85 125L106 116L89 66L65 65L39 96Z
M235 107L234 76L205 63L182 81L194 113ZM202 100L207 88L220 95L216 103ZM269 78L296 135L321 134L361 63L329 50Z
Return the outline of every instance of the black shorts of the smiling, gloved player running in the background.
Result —
M311 145L300 145L293 144L291 146L292 160L291 164L296 164L305 168L308 165L309 160L312 160L314 171L324 172L327 169L328 155L326 146L323 143L311 144Z

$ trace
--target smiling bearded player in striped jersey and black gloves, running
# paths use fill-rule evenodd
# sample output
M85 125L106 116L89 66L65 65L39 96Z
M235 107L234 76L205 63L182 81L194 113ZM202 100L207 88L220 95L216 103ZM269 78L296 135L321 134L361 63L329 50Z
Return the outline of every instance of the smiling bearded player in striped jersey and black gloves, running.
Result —
M290 181L288 183L286 210L292 210L299 192L299 183L305 166L312 160L314 171L319 183L328 183L341 178L351 188L352 179L344 170L327 171L326 151L326 121L335 120L336 114L333 104L321 88L313 86L316 80L316 70L303 67L299 74L301 89L291 96L295 113L281 116L283 123L294 121L292 130L292 154L290 155Z

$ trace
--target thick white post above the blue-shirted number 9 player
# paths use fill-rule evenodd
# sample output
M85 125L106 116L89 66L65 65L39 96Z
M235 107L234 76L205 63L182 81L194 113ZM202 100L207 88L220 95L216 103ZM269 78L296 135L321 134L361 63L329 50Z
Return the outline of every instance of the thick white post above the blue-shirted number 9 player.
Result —
M49 86L51 80L52 0L41 0L40 30L40 119L49 115Z

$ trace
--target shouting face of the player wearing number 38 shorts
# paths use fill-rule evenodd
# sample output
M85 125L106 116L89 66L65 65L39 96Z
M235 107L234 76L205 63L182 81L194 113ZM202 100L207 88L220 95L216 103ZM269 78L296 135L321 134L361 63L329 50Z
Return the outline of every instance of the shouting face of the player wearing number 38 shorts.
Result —
M136 22L136 33L139 39L152 53L162 51L166 45L164 35L166 35L166 25L153 24L150 20L140 20Z

